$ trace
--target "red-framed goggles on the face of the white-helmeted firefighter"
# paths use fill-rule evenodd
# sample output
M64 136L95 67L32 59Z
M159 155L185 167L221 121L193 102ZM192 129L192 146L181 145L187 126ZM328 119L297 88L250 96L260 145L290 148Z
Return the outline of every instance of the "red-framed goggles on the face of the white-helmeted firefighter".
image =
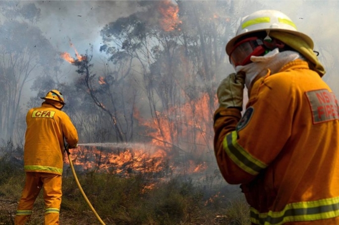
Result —
M268 53L271 43L257 37L246 38L237 43L229 54L229 62L234 66L246 65L251 62L251 56L263 56Z

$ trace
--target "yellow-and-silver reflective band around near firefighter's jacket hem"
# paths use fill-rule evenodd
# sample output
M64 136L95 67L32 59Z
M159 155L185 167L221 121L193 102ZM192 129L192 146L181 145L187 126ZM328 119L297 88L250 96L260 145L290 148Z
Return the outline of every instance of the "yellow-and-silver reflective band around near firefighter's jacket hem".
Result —
M290 203L280 212L259 213L252 208L251 222L257 225L282 225L286 222L324 220L339 216L339 197Z

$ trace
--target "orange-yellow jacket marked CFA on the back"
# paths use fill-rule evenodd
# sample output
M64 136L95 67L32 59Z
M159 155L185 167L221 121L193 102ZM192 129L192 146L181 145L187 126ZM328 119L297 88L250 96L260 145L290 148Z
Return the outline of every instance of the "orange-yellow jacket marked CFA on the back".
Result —
M78 133L65 112L43 103L26 115L27 129L24 146L26 172L62 174L65 137L70 146L78 143Z

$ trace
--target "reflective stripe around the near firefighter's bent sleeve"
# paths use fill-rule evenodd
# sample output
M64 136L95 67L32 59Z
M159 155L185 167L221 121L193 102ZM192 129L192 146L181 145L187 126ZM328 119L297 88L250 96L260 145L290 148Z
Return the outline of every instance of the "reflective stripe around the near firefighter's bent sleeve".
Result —
M254 158L237 143L237 137L238 134L236 131L226 134L223 146L227 156L238 165L238 167L252 175L257 175L262 169L267 168L268 165Z

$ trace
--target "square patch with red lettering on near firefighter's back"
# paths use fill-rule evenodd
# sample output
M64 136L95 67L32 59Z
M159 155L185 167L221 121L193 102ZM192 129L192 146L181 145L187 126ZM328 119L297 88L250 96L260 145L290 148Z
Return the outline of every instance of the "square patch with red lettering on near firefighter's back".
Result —
M327 89L305 93L311 106L313 124L339 119L336 96Z

